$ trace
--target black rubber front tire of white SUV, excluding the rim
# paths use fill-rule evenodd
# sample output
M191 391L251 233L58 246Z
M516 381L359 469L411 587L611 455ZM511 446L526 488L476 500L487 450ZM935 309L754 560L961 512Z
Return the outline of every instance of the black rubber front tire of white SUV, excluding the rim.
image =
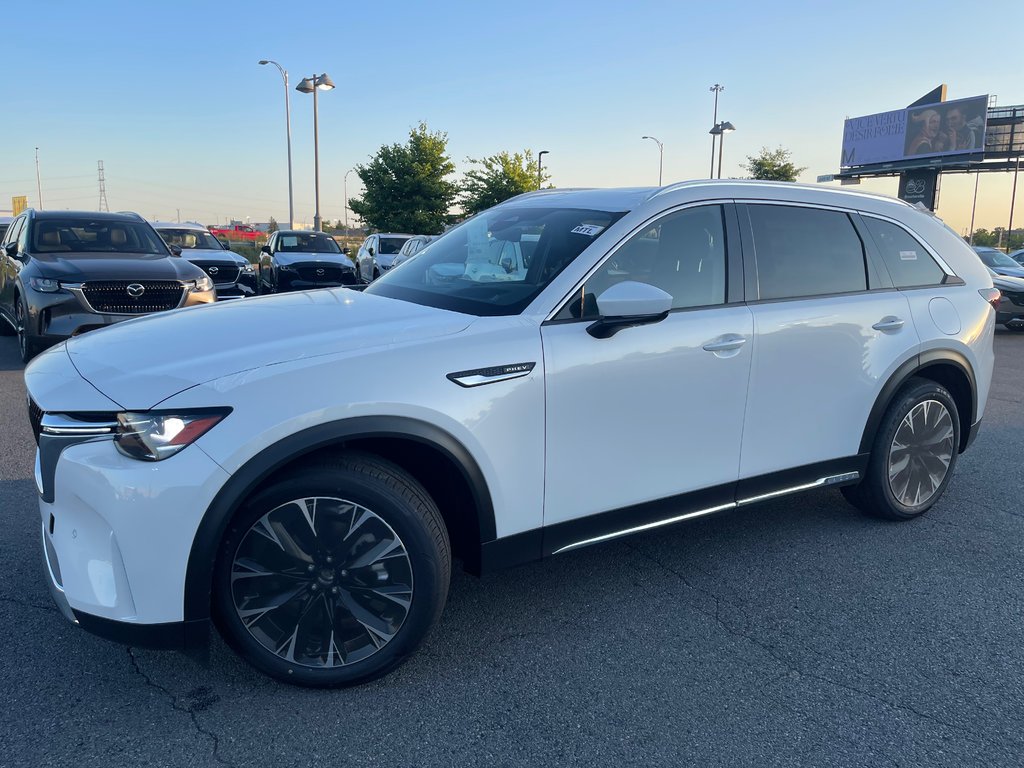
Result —
M249 528L286 502L306 497L336 497L359 504L381 517L401 539L413 570L413 599L394 638L371 656L331 670L291 664L264 647L242 624L234 608L230 571L234 554ZM239 511L222 540L214 568L214 616L225 640L260 671L296 685L337 687L378 678L401 664L437 622L447 595L447 567L423 520L387 485L350 469L300 472L261 492Z

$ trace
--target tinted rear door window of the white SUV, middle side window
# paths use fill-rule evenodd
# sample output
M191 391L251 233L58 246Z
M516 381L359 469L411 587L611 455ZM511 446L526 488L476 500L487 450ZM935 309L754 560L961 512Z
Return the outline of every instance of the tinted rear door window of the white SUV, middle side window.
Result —
M864 246L839 211L749 205L761 299L867 290Z

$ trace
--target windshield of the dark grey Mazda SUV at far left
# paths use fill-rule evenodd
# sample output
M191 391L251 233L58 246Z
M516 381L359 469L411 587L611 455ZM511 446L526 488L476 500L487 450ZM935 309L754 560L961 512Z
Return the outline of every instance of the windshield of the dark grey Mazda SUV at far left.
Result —
M33 253L168 253L153 228L136 221L45 218L32 229Z

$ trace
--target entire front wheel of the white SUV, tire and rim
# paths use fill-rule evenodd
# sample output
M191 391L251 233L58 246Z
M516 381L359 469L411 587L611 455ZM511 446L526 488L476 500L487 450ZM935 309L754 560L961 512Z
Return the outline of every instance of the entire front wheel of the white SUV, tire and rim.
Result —
M441 614L451 570L447 531L423 486L372 455L341 455L239 511L214 568L214 618L278 680L357 685L416 651Z

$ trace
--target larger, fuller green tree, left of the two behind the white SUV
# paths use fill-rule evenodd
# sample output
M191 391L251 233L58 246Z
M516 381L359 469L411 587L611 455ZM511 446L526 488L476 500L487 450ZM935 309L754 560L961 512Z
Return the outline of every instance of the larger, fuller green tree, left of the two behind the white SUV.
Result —
M447 134L431 133L420 123L408 142L385 144L368 164L355 166L364 194L348 206L378 231L437 234L451 220L449 210L459 191L446 179L454 172Z

